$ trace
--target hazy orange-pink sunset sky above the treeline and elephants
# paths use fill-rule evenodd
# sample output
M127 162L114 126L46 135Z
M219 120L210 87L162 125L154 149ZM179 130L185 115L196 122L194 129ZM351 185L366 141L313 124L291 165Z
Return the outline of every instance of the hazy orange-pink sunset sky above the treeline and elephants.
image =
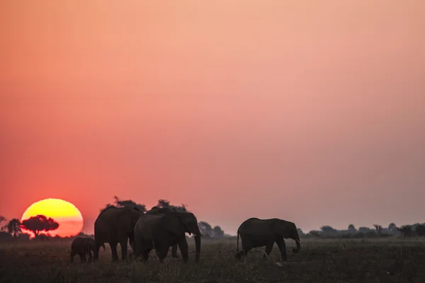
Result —
M161 3L161 4L160 4ZM0 215L425 221L425 2L0 1Z

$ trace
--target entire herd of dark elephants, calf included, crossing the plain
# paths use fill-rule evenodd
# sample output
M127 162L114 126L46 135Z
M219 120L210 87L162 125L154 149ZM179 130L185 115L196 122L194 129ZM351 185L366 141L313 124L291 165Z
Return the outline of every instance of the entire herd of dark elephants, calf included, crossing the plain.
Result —
M174 209L152 207L146 213L137 207L107 207L94 222L94 239L75 238L71 247L71 262L74 255L79 255L81 261L98 260L99 249L109 243L112 260L118 260L117 246L120 243L122 260L128 259L128 243L133 250L133 257L147 262L151 250L155 250L159 262L163 262L171 247L171 255L178 258L179 246L183 262L188 262L188 243L185 233L193 234L195 238L195 262L200 258L200 233L198 219L191 212L177 212ZM239 251L239 236L242 250ZM278 245L282 260L287 260L284 238L295 240L297 248L293 253L300 251L300 236L293 222L282 219L250 218L244 221L237 230L237 260L242 259L251 250L266 246L266 255L270 255L274 243ZM93 251L94 255L91 255Z

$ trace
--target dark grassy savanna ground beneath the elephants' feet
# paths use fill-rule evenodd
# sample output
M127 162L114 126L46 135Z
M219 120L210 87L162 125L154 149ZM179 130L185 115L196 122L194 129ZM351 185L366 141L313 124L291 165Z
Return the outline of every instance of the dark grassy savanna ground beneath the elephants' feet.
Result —
M193 239L188 242L186 265L171 258L171 248L162 265L154 251L147 265L113 263L108 245L99 262L81 264L77 256L71 264L71 240L4 242L0 282L425 282L425 241L419 238L304 239L298 254L292 252L295 243L286 241L288 262L281 263L276 244L268 260L251 250L237 262L236 239L229 238L203 239L196 264Z

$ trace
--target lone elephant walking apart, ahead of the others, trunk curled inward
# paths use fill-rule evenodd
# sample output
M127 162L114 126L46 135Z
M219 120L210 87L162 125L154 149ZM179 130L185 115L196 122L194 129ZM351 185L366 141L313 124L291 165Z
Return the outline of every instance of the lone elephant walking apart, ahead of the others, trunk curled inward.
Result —
M239 235L242 242L242 250L239 251ZM297 243L294 253L299 253L301 244L297 226L293 222L282 219L246 219L237 229L237 254L235 257L240 260L251 250L266 246L266 255L270 255L274 243L276 243L282 255L282 260L287 261L286 245L284 238L291 238Z

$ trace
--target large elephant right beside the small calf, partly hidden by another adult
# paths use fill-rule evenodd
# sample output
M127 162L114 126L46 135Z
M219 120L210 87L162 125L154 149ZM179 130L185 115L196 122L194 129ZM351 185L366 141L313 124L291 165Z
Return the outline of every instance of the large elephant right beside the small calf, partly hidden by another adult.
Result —
M127 260L127 243L132 247L135 224L143 212L137 207L107 207L94 221L94 261L98 260L99 248L109 243L112 260L118 260L117 245L121 246L121 258Z

